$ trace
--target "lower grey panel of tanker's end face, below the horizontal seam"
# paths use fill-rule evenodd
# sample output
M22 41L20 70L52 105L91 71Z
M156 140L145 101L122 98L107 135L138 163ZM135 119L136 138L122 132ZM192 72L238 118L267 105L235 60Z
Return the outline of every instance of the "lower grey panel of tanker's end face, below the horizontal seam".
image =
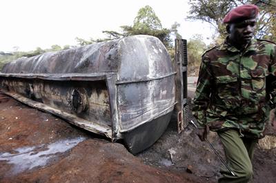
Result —
M119 85L121 131L129 131L164 116L175 105L174 76L162 80Z

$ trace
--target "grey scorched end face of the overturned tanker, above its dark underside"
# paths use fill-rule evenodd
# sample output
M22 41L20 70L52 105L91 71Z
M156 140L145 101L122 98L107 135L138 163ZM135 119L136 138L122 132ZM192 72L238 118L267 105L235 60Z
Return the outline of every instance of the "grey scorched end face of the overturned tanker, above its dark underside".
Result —
M121 131L125 132L172 111L175 71L166 48L159 41L148 44L140 37L137 41L122 42L121 49L126 52L121 55L117 90Z

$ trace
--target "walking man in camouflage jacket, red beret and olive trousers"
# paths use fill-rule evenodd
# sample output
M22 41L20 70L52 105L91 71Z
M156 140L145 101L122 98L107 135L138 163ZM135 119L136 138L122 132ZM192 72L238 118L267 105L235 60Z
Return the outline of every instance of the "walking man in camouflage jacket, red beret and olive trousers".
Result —
M250 180L255 144L264 137L276 104L276 45L253 39L258 12L255 5L228 12L225 42L202 56L193 100L197 134L204 140L209 129L217 131L226 162L235 173L221 169L219 182Z

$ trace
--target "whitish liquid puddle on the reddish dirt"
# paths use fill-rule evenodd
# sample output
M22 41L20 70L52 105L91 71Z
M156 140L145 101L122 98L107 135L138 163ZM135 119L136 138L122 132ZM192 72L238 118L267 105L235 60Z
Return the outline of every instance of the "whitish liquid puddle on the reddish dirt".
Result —
M52 144L39 147L21 147L14 149L17 153L0 153L0 161L7 161L13 164L12 174L30 170L36 166L45 166L49 160L55 158L57 153L64 153L86 138L79 137L67 140L59 140Z

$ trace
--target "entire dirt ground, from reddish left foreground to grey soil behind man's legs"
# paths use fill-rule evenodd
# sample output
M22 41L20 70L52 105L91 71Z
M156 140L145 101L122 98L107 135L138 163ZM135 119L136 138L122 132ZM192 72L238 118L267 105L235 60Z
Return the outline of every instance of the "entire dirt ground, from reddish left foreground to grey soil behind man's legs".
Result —
M192 88L189 98L193 94ZM252 182L276 180L275 135L269 130L255 151ZM223 155L216 134L208 139ZM152 147L134 156L123 144L0 94L0 182L217 182L219 166L193 127L178 134L174 120Z

